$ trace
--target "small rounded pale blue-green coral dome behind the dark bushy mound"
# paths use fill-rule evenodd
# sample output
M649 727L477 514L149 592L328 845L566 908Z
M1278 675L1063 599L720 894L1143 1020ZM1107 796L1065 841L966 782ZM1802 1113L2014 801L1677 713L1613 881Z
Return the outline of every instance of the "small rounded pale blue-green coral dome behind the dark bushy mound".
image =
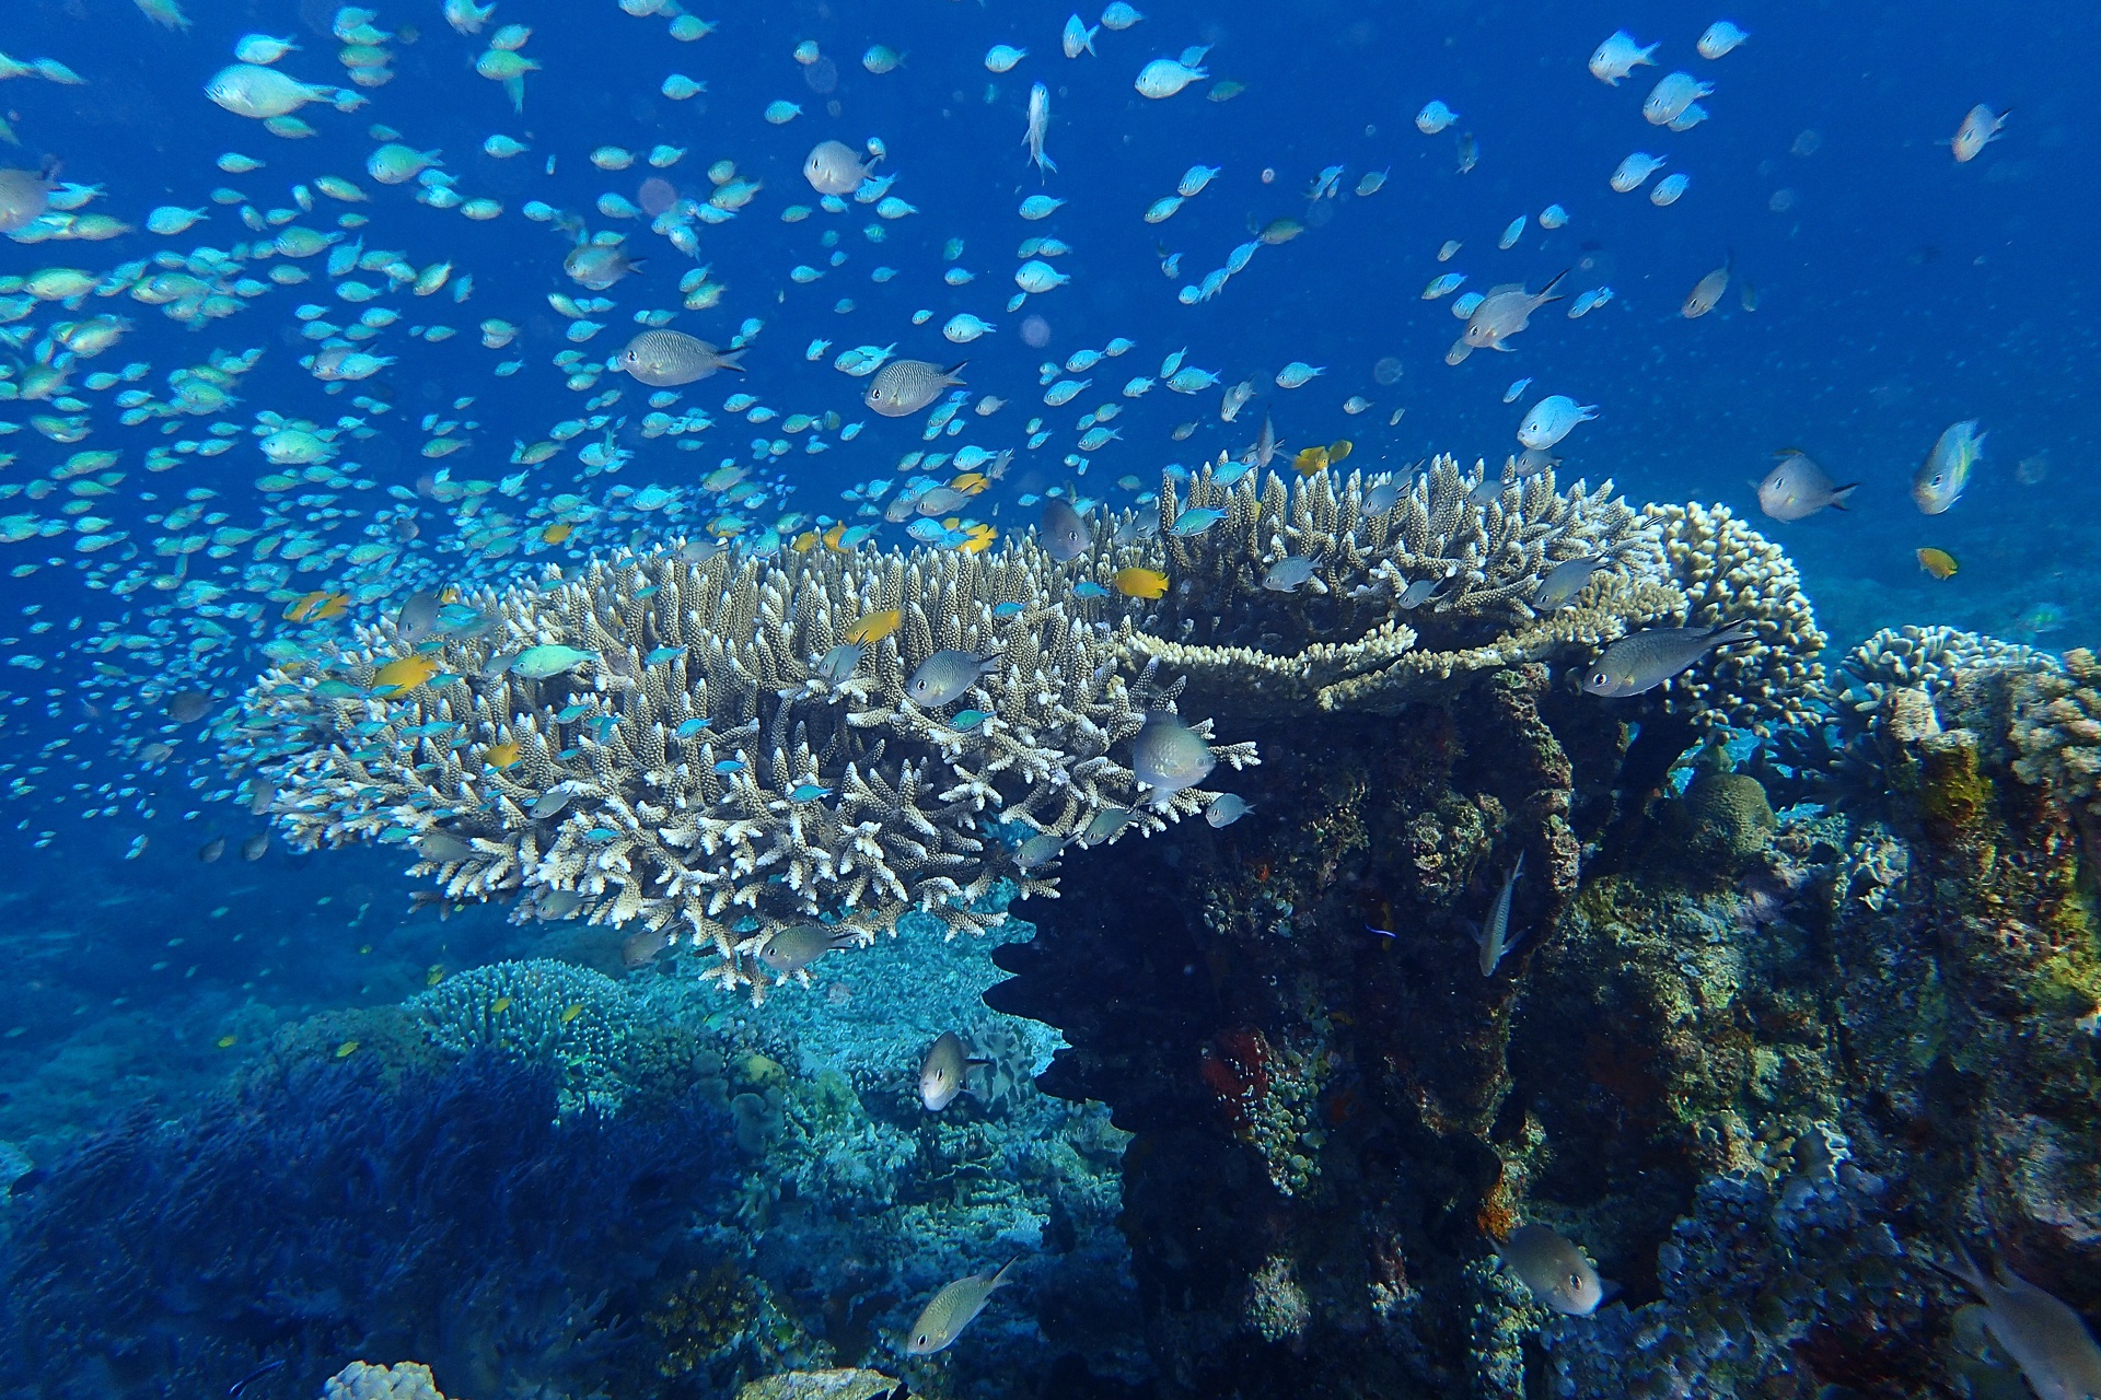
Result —
M561 1106L618 1110L637 1014L620 982L534 957L487 963L410 999L424 1035L452 1054L508 1049L561 1073Z

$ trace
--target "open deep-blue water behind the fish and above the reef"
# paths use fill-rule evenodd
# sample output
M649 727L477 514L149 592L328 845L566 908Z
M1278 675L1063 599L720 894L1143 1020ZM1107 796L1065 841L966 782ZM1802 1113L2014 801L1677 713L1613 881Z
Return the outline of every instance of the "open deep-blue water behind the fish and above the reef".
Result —
M235 800L237 775L227 775L210 741L166 728L162 701L202 686L214 705L231 705L265 667L261 646L296 632L286 604L345 577L340 569L294 575L275 594L248 596L248 617L212 613L242 594L200 602L181 590L185 577L210 577L216 567L197 552L176 575L181 552L160 548L208 529L166 525L185 491L208 489L208 508L233 525L256 525L284 506L254 485L269 472L252 432L256 413L315 424L357 416L370 430L342 441L342 462L357 468L345 474L363 485L307 487L288 512L292 525L273 529L296 535L303 521L315 521L309 512L336 510L334 537L347 542L374 512L401 502L420 512L420 539L387 565L397 592L387 594L380 577L378 592L353 604L370 615L399 604L408 586L511 581L550 558L574 569L647 525L635 512L601 514L561 550L534 544L532 533L555 518L544 502L563 491L603 504L609 487L674 487L687 491L681 533L698 535L723 510L695 487L719 462L752 462L767 489L763 506L742 512L752 535L782 514L805 516L782 531L792 542L832 518L859 518L840 493L912 474L899 468L901 453L958 443L1015 449L1004 476L958 508L1011 535L1034 523L1036 497L1053 489L1124 506L1158 489L1170 464L1240 455L1261 413L1288 449L1349 439L1353 466L1401 470L1437 451L1496 462L1515 451L1525 407L1559 393L1597 405L1597 420L1561 445L1563 479L1609 476L1637 504L1731 504L1801 567L1836 649L1901 623L2063 649L2101 621L2101 552L2090 529L2101 495L2086 479L2101 443L2088 393L2093 229L2101 220L2088 153L2101 120L2084 97L2084 55L2101 42L2101 17L2086 6L1750 6L1727 15L1750 38L1706 61L1693 42L1721 15L1670 4L1153 4L1128 29L1101 29L1095 52L1067 59L1063 8L1000 0L693 10L712 31L689 42L672 38L670 4L660 13L626 6L637 15L613 0L500 0L483 31L460 34L435 0L416 0L370 19L387 34L378 48L391 71L372 88L353 86L338 61L336 4L185 0L181 8L183 27L155 23L130 0L11 0L0 13L0 52L19 63L57 59L80 78L55 82L25 69L0 82L0 118L15 139L0 147L0 166L55 164L57 181L97 187L82 214L128 227L107 241L17 237L0 246L0 277L71 267L103 281L76 304L23 300L21 315L0 327L17 382L40 359L63 361L63 344L53 353L46 340L57 323L97 313L132 323L118 348L74 367L80 409L0 403L0 422L13 428L0 453L15 455L0 487L23 487L0 502L0 516L34 516L23 525L29 537L11 533L0 544L0 565L13 569L0 586L0 646L11 659L0 682L0 779L11 783L0 800L0 938L13 959L0 997L0 1083L8 1085L0 1140L21 1144L27 1161L55 1161L137 1102L179 1106L206 1096L235 1060L261 1054L279 1026L303 1018L393 1005L427 982L504 957L569 953L618 966L607 947L586 947L582 936L569 947L527 938L500 911L466 909L445 921L410 913L397 852L313 854L277 842L242 858L240 844L265 833L265 819ZM532 27L519 52L540 65L523 80L523 111L473 69L506 23ZM1662 48L1656 67L1614 88L1586 71L1586 59L1622 27ZM361 92L368 103L355 111L309 105L300 111L313 128L307 139L265 134L256 120L210 103L206 82L252 31L300 46L277 63L282 71ZM815 44L813 63L796 55L805 42ZM868 71L864 52L874 44L903 55L901 63ZM992 44L1029 52L1013 71L992 73ZM1206 48L1204 78L1162 101L1132 90L1143 63L1189 46ZM1674 67L1714 84L1702 99L1712 115L1685 132L1641 115L1653 80ZM706 92L674 101L664 92L670 73L704 80ZM1055 174L1038 174L1023 149L1036 82L1048 90ZM1244 90L1223 97L1221 82ZM1416 113L1433 99L1458 120L1424 134ZM761 115L773 101L803 111L773 126ZM1998 141L1958 164L1948 141L1977 103L2011 109L2011 118ZM374 126L437 151L460 195L496 199L502 212L477 222L416 199L439 187L376 183L366 160L395 136L376 136ZM487 155L492 132L529 151ZM1479 151L1464 172L1462 136ZM878 218L872 206L847 204L838 214L784 220L788 206L817 206L803 162L824 139L857 149L878 141L887 155L874 174L895 176L891 193L916 212ZM687 153L653 170L641 155L656 145ZM599 147L637 160L601 170L590 164ZM227 174L214 164L227 151L263 166ZM1647 187L1614 193L1607 176L1630 151L1664 155L1660 176L1689 174L1685 195L1658 208ZM603 212L607 193L643 201L649 176L706 199L712 162L733 162L761 191L733 218L700 225L695 256L651 233L647 214ZM1147 206L1195 164L1221 174L1164 222L1145 222ZM1328 166L1343 168L1338 193L1309 199ZM1353 193L1368 172L1387 172L1385 185ZM363 199L317 193L313 181L330 174L355 181ZM233 193L219 201L219 189ZM1023 220L1017 206L1034 193L1065 204L1044 220ZM624 233L630 252L645 256L641 271L603 292L613 306L590 317L605 323L597 338L567 338L569 321L550 306L548 294L586 292L561 271L571 239L529 220L527 201L571 212L595 233ZM1540 227L1551 204L1567 212L1565 227ZM208 210L210 218L155 237L141 229L155 206ZM231 298L227 315L189 323L126 294L141 279L137 269L122 275L134 260L256 246L288 222L332 231L342 214L368 220L342 229L345 239L401 250L414 269L450 262L452 281L429 298L389 288L374 304L401 319L368 348L395 363L340 393L298 365L317 342L300 334L294 306L317 302L326 313L313 319L342 325L359 311L328 294L321 258L296 260L311 281L275 285L267 271L294 260L235 256L242 271L219 277ZM1500 250L1498 235L1519 216L1527 218L1521 237ZM1280 218L1303 231L1261 246L1214 298L1177 298ZM1027 237L1069 243L1053 260L1069 283L1008 309L1017 246ZM1458 252L1439 262L1452 239ZM960 241L954 254L952 241ZM1162 271L1170 254L1181 256L1174 275ZM700 264L727 292L712 309L679 311L681 277ZM1729 292L1710 315L1685 319L1687 292L1723 264ZM824 275L796 281L796 267ZM948 267L973 279L950 285ZM895 275L876 279L876 269ZM1420 296L1445 271L1466 273L1462 292L1511 281L1540 288L1565 273L1569 298L1609 285L1611 300L1582 319L1563 315L1567 300L1551 302L1513 353L1445 365L1460 321L1450 298ZM473 294L456 300L469 275ZM240 277L256 288L233 292ZM363 277L387 281L384 273ZM13 304L23 292L8 285ZM639 330L645 309L677 311L674 327L716 344L761 323L744 332L742 378L719 374L683 390L683 405L712 416L706 432L651 437L645 388L620 374L571 388L571 369L553 363L567 348L603 363ZM950 344L939 332L958 313L996 330ZM477 323L492 317L517 327L511 346L481 344ZM441 342L408 334L435 323L458 334ZM1111 338L1135 348L1076 372L1093 380L1088 393L1067 407L1038 403L1053 378L1042 365ZM811 355L815 340L830 346ZM922 437L920 418L876 418L861 405L866 380L836 372L832 357L893 342L897 355L966 361L971 401L996 395L1006 407L983 418L966 407L962 434L939 441ZM139 386L164 390L168 372L214 351L258 351L258 359L231 390L233 403L208 418L126 426L120 386L82 388L86 376L137 361L149 365ZM1185 363L1214 372L1219 386L1189 397L1164 384L1141 397L1118 393L1130 378L1164 380L1162 359L1181 351ZM498 376L513 359L521 367ZM1303 388L1277 388L1273 376L1290 361L1322 374ZM1240 380L1258 397L1225 424L1219 393ZM1530 388L1509 401L1504 390L1517 380ZM624 390L618 403L586 407L611 388ZM740 422L723 407L733 393L782 416L836 411L838 422L864 428L845 439L819 422L790 441L777 418ZM387 407L353 407L359 395ZM1347 413L1353 395L1370 407ZM1082 462L1074 420L1099 403L1122 407L1109 424L1120 439ZM32 424L40 413L82 422L55 437ZM569 443L571 451L532 468L513 462L515 445L592 413L607 422ZM427 416L462 424L448 437L466 447L422 455L437 434L418 428ZM1023 424L1038 416L1050 437L1029 449ZM1983 464L1954 510L1925 516L1910 500L1912 472L1943 428L1971 418L1990 434ZM195 441L210 422L237 428L229 451L179 453L172 470L147 470L147 449ZM1172 437L1179 424L1195 428ZM618 470L586 472L574 449L601 439L630 455ZM769 455L773 439L788 443L779 455ZM811 439L828 449L807 451ZM698 451L685 449L693 443ZM1851 508L1796 523L1759 518L1752 483L1782 447L1809 451L1840 483L1861 483ZM25 483L90 449L122 453L113 468L97 468L124 472L107 493L27 491ZM454 483L523 472L487 497L492 510L521 521L508 548L460 542L448 502L433 495L437 472ZM1116 485L1124 476L1139 485ZM67 497L103 518L103 533L128 531L128 539L107 552L80 550L80 514L59 510ZM891 523L876 539L903 544L903 531ZM1950 552L1954 577L1925 573L1920 548ZM240 588L248 563L246 544L235 546L221 567L229 588ZM103 565L111 567L95 573ZM97 640L111 636L139 642ZM174 751L143 758L164 735ZM200 861L219 837L229 842L225 852ZM983 961L969 961L975 955L964 949L954 957L943 1010L964 1014L975 1007ZM899 1031L899 1054L935 1024Z

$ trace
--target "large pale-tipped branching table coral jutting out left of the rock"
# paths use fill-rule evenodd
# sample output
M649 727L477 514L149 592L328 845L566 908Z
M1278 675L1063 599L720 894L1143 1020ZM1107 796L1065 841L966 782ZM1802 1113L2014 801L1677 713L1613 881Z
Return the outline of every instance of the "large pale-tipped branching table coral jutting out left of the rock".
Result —
M296 844L414 844L414 873L448 898L527 894L521 917L685 932L714 951L708 976L758 997L758 953L786 928L824 919L866 945L920 909L981 932L1004 917L983 907L1000 877L1055 894L992 823L1074 837L1118 808L1149 833L1210 802L1191 787L1139 808L1111 756L1179 693L1118 672L1135 604L1088 604L1120 613L1114 630L1067 607L1074 581L1114 567L1109 550L1065 567L1032 544L618 552L574 581L475 596L471 634L412 649L363 625L338 674L271 672L246 741ZM834 651L880 613L897 625L866 655ZM950 649L994 661L920 707L906 682ZM376 684L410 657L441 672ZM1214 756L1256 762L1252 745Z

